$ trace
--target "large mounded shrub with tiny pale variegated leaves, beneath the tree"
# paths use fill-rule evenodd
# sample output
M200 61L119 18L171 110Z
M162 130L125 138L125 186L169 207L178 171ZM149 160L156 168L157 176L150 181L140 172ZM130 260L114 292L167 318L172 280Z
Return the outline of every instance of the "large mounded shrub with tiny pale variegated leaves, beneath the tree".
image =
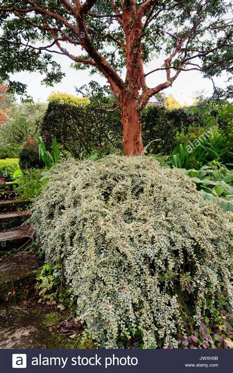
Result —
M87 331L106 347L140 331L145 348L177 346L178 331L201 322L208 299L230 299L230 221L152 157L55 166L31 221Z

